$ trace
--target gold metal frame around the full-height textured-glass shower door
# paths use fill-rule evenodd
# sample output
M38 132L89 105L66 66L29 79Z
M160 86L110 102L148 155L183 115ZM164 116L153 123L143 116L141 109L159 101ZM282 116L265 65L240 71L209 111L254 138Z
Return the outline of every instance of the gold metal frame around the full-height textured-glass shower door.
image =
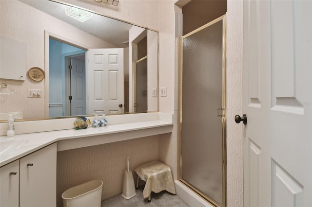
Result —
M222 204L217 203L215 200L210 198L208 195L205 195L200 190L196 189L190 183L182 179L182 73L183 73L183 39L193 35L214 23L222 21ZM226 207L227 203L227 193L226 193L226 15L223 15L215 20L203 25L202 27L197 28L196 30L190 32L187 35L179 37L178 42L178 147L179 147L179 154L178 154L178 179L185 184L187 187L195 191L198 195L203 197L209 203L213 204L217 207ZM218 111L219 112L219 111ZM217 113L217 112L216 112ZM209 115L207 115L209 116ZM211 116L214 116L212 114Z

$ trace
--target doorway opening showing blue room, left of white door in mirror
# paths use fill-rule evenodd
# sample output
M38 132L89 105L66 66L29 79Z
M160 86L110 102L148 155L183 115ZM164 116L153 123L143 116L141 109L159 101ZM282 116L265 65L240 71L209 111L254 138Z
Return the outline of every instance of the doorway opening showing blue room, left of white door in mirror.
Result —
M85 58L78 58L78 54L84 56L86 51L53 38L49 40L49 50L49 117L84 115ZM68 69L70 62L75 64L72 72Z

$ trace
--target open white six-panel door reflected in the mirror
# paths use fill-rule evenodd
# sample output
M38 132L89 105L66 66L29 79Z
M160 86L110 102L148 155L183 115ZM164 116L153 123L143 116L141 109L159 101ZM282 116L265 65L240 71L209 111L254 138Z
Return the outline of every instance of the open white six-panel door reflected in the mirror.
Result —
M87 54L87 112L123 113L123 49L90 49Z

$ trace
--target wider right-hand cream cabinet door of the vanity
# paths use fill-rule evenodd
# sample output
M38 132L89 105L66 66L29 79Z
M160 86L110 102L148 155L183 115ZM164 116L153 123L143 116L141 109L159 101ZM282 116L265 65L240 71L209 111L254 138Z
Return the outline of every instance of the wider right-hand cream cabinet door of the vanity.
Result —
M20 207L56 207L57 143L20 159Z

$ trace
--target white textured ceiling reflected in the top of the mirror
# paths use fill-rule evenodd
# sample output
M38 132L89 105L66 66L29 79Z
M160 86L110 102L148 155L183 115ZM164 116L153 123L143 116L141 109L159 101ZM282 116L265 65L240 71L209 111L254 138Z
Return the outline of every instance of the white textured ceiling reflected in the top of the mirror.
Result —
M64 4L50 0L19 0L48 15L56 17L68 24L94 35L118 48L128 47L129 29L134 25L113 18L94 14L93 18L80 22L65 15Z

